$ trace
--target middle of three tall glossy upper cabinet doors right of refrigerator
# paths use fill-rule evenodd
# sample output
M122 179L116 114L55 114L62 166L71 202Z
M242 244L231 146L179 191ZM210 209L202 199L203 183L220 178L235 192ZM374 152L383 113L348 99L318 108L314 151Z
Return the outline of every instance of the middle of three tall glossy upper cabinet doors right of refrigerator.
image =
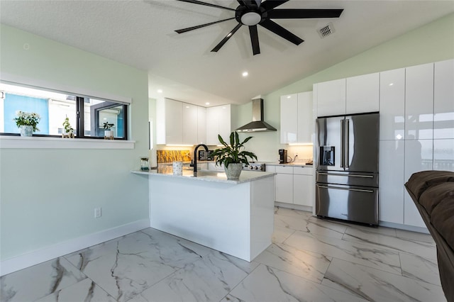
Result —
M405 139L433 138L433 63L405 69Z

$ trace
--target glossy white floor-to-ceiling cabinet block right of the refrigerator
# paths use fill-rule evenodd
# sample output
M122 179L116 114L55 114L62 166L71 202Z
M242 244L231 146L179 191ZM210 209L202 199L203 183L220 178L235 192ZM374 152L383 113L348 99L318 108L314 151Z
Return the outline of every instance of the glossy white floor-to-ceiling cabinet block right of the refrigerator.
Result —
M454 171L454 60L380 73L380 221L425 227L404 183Z

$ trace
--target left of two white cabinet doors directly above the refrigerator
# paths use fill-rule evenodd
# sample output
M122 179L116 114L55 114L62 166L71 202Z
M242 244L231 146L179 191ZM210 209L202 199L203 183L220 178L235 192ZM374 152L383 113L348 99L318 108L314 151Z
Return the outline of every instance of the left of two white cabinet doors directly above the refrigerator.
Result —
M345 114L345 79L317 84L317 116Z

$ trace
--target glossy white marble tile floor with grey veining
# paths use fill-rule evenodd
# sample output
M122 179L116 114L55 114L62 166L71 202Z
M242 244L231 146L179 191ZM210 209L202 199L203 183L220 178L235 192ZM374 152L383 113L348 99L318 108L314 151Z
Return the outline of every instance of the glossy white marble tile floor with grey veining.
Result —
M446 301L430 235L276 208L245 262L147 228L0 279L0 301Z

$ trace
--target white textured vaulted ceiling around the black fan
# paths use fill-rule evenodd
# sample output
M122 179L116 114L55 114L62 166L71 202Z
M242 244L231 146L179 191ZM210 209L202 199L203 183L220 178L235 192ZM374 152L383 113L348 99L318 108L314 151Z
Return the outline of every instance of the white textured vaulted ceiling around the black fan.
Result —
M233 9L233 0L202 0ZM269 0L270 1L270 0ZM193 104L244 104L370 47L454 12L454 1L301 1L280 9L344 9L340 18L277 20L304 40L296 46L258 26L260 55L249 31L238 30L219 52L210 50L236 26L226 21L188 33L174 30L233 17L233 11L173 0L0 1L0 21L122 62L150 75L150 96ZM332 22L336 32L317 30ZM247 78L241 77L248 71Z

